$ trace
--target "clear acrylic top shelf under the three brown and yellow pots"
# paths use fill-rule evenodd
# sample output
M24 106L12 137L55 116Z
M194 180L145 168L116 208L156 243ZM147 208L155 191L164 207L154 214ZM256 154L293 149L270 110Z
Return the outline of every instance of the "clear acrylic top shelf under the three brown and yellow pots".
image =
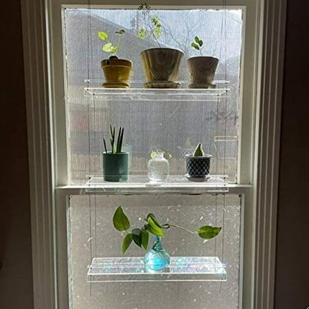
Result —
M113 101L190 101L218 102L228 98L229 89L144 89L144 88L84 88L84 95L91 100Z

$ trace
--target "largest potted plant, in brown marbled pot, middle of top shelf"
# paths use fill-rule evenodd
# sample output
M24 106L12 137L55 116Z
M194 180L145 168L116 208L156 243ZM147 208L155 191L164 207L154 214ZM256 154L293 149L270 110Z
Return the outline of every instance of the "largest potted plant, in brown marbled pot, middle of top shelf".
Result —
M179 88L176 82L183 52L178 49L161 47L161 21L158 16L150 13L150 6L146 3L139 5L144 16L144 27L140 27L137 37L141 39L154 38L159 47L146 49L141 52L141 61L147 82L144 88Z

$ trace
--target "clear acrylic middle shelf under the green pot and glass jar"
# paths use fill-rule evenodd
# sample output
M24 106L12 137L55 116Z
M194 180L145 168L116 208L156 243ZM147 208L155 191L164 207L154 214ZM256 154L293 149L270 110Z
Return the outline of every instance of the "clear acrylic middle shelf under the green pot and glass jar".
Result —
M185 176L169 176L166 181L152 182L148 176L129 176L128 181L108 182L103 177L92 176L86 183L86 192L119 192L119 193L187 193L202 194L205 192L229 192L225 175L209 175L203 182L188 181Z

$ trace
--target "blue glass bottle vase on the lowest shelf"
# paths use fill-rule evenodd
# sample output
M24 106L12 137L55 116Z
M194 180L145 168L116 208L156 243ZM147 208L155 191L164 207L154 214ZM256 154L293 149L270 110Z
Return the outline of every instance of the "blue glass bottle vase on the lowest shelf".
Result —
M170 264L170 255L161 244L161 237L154 236L152 248L144 256L144 264L148 271L161 271Z

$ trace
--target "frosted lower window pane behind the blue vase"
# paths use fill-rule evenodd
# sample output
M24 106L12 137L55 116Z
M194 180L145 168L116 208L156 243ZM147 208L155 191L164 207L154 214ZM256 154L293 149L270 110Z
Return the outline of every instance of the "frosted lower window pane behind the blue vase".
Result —
M240 197L182 196L178 194L139 196L71 196L69 200L69 269L73 309L238 309L240 281ZM132 225L141 225L149 212L161 221L188 229L218 225L218 238L205 241L184 231L169 229L162 240L172 257L200 257L213 266L225 264L226 281L218 276L207 282L87 282L88 266L95 258L121 258L122 235L113 227L113 213L122 205ZM142 257L145 251L132 246L125 258ZM207 257L210 259L207 260ZM216 258L211 258L216 257ZM200 260L200 261L201 261ZM198 262L198 259L192 258ZM191 261L191 262L192 262ZM100 262L100 260L97 260ZM221 264L220 264L221 265ZM136 268L135 268L136 270ZM205 269L203 269L205 273ZM208 269L213 271L214 269ZM221 270L221 275L223 271ZM181 275L180 279L194 279ZM130 279L128 277L128 279ZM133 279L137 279L133 275ZM149 278L148 278L149 279ZM151 279L151 277L150 277ZM91 281L91 279L89 279ZM137 280L138 281L138 280Z

